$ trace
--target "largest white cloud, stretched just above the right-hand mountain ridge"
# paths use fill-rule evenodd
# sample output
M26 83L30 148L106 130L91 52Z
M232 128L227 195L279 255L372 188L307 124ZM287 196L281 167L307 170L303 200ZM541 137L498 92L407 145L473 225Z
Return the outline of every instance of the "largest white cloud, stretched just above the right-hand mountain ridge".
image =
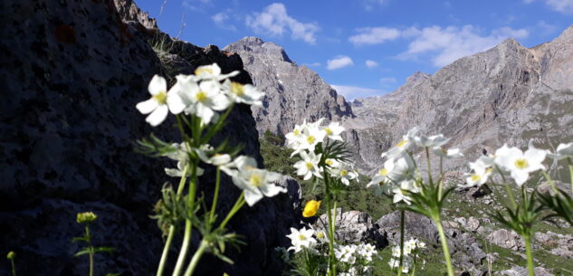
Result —
M525 29L516 30L510 27L502 27L493 30L489 35L481 35L479 28L473 25L445 28L431 26L417 32L409 32L415 39L409 43L408 50L398 55L398 58L415 59L420 54L429 52L432 62L438 67L475 52L488 50L507 38L526 38L529 35Z

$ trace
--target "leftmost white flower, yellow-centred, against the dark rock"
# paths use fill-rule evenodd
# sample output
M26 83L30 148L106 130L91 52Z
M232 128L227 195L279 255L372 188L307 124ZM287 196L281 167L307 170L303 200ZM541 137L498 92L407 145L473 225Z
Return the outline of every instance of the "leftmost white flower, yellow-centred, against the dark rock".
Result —
M161 124L167 118L169 109L172 109L172 112L177 114L174 111L181 108L177 87L174 86L167 92L167 81L163 77L153 76L151 81L149 81L148 91L151 94L151 98L139 102L135 107L141 114L151 113L145 119L151 126L156 127Z

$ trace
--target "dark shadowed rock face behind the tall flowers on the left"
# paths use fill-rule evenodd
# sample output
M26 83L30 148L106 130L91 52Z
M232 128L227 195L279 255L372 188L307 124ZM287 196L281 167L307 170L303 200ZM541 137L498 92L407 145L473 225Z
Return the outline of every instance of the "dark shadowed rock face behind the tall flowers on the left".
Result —
M241 59L149 30L155 21L129 0L8 0L2 7L0 49L10 53L0 60L0 81L9 95L0 103L2 253L17 253L18 274L85 274L87 260L72 257L81 244L70 240L82 231L75 214L93 211L100 216L91 227L94 243L116 248L96 256L98 273L154 273L162 241L148 215L161 185L174 181L163 167L174 164L134 153L133 142L152 131L176 140L177 130L170 127L173 120L149 127L135 104L148 99L154 74L172 79L213 62L224 72L242 71L234 81L251 82ZM158 38L168 47L152 43ZM244 154L262 164L251 110L238 106L230 118L217 139L243 143ZM205 187L214 170L206 169L199 192L210 198ZM198 274L276 274L281 262L272 248L288 244L285 234L298 222L293 207L300 198L294 180L283 178L282 185L288 194L245 207L230 222L248 243L243 254L229 252L239 265L205 257L202 263L209 265ZM228 210L239 191L227 178L222 189L221 209ZM0 266L0 274L8 275L7 269Z

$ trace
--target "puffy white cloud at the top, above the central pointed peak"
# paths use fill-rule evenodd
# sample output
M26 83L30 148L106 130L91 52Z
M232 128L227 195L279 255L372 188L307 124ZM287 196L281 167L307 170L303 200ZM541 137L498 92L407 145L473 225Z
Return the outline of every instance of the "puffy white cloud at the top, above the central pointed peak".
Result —
M289 16L286 7L281 3L268 5L263 13L247 15L246 25L256 33L268 33L274 36L282 36L288 29L293 40L303 40L310 44L316 43L314 33L319 31L318 24L301 23Z

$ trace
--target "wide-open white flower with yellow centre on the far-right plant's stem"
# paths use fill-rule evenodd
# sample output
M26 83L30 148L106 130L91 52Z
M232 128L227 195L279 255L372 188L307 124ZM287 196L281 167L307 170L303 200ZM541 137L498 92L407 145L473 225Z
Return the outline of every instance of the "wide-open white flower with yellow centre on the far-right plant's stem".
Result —
M519 148L508 148L507 145L503 145L495 151L495 164L508 170L515 183L521 186L530 177L531 172L545 170L541 162L547 153L547 150L533 147L532 143L525 153Z

